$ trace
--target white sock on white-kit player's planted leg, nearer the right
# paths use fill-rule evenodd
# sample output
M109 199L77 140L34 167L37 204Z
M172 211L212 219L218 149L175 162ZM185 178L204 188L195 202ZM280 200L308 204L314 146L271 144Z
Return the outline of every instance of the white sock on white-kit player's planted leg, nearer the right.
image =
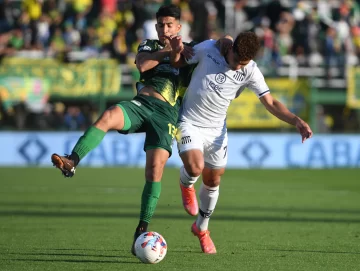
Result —
M200 192L200 210L196 219L196 226L200 231L208 229L211 214L214 212L217 200L219 198L219 186L209 187L201 184Z

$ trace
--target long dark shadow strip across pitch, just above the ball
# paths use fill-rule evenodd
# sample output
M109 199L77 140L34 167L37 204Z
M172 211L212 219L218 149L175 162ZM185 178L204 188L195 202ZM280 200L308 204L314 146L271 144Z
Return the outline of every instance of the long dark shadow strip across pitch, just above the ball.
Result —
M0 211L0 216L11 217L68 217L68 218L138 218L138 213L134 212L121 213L121 212L106 212L106 213L91 213L79 211ZM157 219L184 219L184 214L155 214ZM286 216L243 216L243 215L216 215L216 220L223 221L247 221L247 222L319 222L319 223L360 223L360 218L317 218L317 217L290 217Z

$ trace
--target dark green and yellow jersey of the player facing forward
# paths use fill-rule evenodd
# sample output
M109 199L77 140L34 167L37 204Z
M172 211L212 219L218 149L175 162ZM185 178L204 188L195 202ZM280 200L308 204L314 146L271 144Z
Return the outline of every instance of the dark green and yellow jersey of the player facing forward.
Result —
M192 43L185 45L194 46ZM156 52L164 48L159 40L144 40L138 47L138 53ZM140 83L144 86L152 86L172 106L180 106L182 97L189 85L191 74L195 65L177 69L171 66L170 58L165 58L157 66L146 72L140 73Z

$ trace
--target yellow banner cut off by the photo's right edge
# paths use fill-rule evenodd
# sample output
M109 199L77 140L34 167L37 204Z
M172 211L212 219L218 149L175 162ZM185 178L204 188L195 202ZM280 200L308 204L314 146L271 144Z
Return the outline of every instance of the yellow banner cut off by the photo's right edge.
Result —
M360 68L350 67L347 73L346 105L360 109Z

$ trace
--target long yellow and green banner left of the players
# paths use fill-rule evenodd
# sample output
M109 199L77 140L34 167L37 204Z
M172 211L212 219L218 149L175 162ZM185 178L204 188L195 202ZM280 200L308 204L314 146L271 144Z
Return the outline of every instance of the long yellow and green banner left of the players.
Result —
M116 95L121 84L118 64L110 59L60 63L54 59L7 58L0 66L0 77L46 80L51 95L64 97Z

